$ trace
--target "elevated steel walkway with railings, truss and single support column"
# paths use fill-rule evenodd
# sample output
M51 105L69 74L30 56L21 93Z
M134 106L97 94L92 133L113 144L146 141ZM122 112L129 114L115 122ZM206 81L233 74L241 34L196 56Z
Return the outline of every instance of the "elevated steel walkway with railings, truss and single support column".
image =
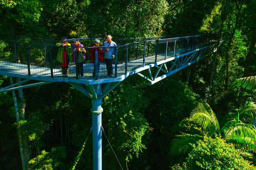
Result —
M69 41L71 42L73 39ZM91 55L88 53L92 48L90 46L93 44L93 39L80 39L80 41L86 50L86 61L83 67L84 79L78 78L77 63L70 63L68 78L62 77L61 63L57 62L58 47L55 46L59 41L0 35L2 45L0 48L0 74L23 79L9 87L0 89L0 92L53 82L67 82L89 97L92 100L93 169L100 170L102 169L102 98L133 74L138 74L148 80L150 85L161 81L201 60L207 54L216 52L223 38L222 32L211 32L186 36L113 39L118 45L113 61L114 77L105 77L107 71L103 61L100 64L100 73L96 80L93 79L93 63ZM100 44L103 44L103 41ZM148 72L143 72L145 70ZM29 83L30 80L39 82Z

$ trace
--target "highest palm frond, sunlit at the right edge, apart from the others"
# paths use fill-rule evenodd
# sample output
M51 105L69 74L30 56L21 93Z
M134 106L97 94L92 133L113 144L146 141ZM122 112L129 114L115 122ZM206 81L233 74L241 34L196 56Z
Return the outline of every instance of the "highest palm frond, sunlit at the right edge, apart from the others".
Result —
M256 76L237 79L234 85L253 91L256 88Z

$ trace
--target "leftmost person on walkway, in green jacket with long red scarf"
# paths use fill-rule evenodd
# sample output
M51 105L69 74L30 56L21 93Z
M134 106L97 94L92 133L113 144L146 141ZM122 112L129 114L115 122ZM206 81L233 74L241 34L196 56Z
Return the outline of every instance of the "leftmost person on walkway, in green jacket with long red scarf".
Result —
M61 63L62 74L64 77L68 77L69 62L73 62L71 45L67 42L66 37L62 37L61 42L57 43L56 46L59 47L57 61Z

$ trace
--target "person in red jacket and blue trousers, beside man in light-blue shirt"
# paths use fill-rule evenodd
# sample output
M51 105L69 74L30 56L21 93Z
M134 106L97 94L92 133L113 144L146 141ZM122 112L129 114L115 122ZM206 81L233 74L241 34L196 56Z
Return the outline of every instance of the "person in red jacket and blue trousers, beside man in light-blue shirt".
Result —
M101 47L100 40L95 39L94 44L91 47ZM95 52L98 52L98 58L95 58ZM93 79L98 80L99 72L100 72L100 62L103 62L103 49L102 48L90 48L89 53L92 55L92 63L93 63Z

